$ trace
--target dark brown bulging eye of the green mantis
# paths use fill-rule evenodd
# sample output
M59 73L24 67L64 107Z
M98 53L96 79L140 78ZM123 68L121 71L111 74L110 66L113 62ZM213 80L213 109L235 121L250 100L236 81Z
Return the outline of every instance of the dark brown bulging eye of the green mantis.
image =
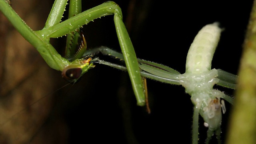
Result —
M82 68L79 68L74 65L67 66L62 71L62 77L69 82L72 82L72 81L76 82L76 80L80 78L81 74L82 74Z

